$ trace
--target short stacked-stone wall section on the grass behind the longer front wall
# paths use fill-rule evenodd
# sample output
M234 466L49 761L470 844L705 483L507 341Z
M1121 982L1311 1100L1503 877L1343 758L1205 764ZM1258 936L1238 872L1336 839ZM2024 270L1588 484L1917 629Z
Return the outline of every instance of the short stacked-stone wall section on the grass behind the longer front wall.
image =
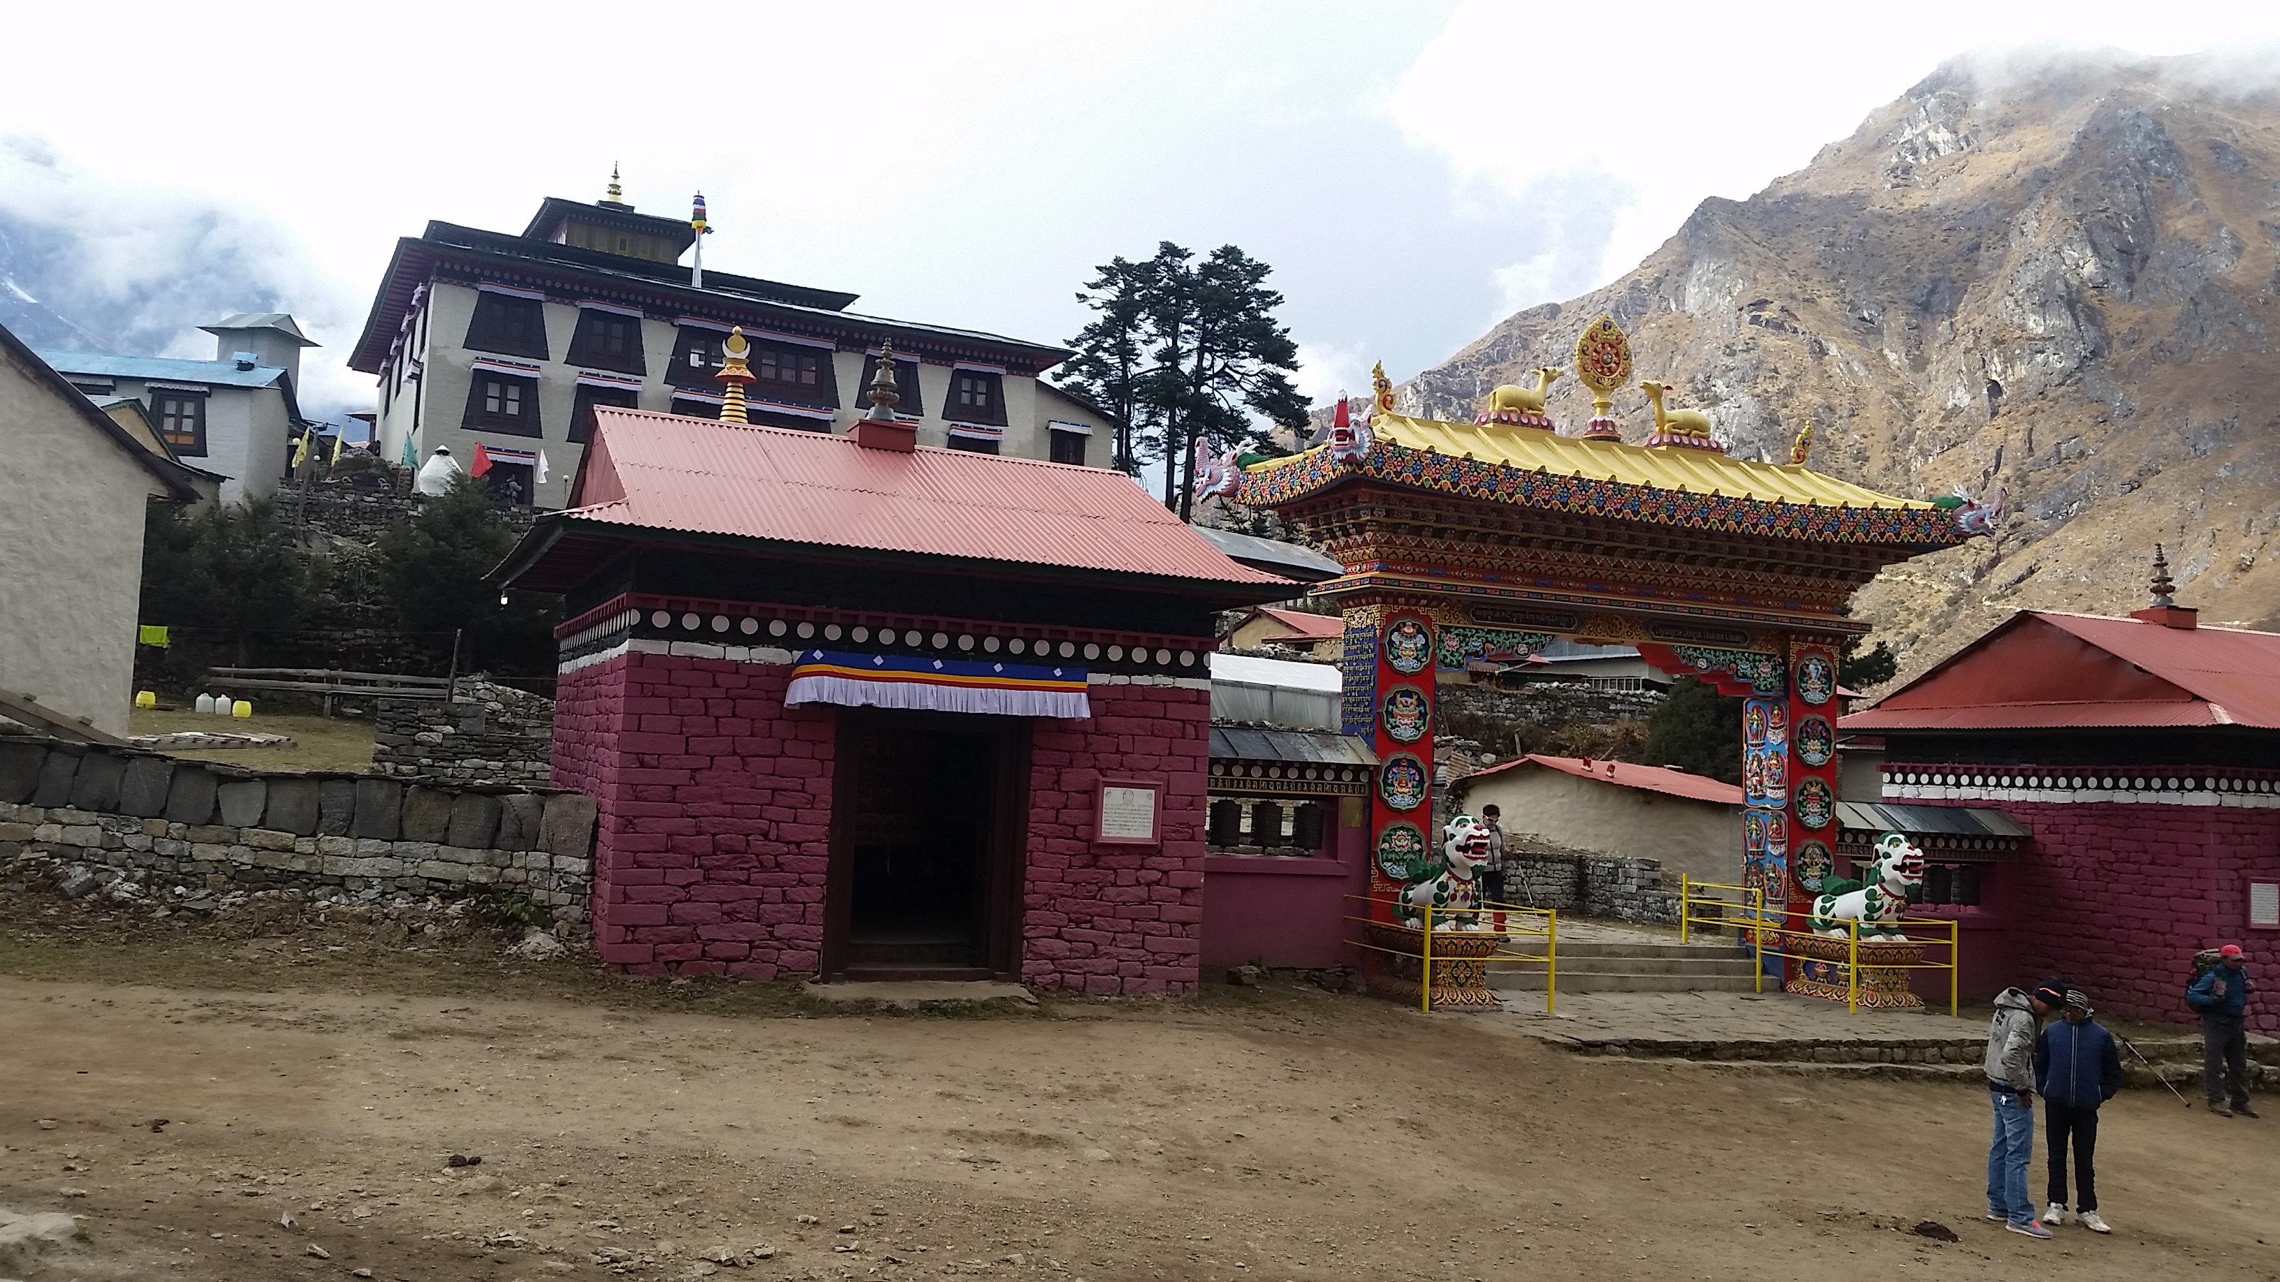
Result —
M449 785L543 785L552 771L554 700L465 677L449 703L383 698L372 721L372 766Z

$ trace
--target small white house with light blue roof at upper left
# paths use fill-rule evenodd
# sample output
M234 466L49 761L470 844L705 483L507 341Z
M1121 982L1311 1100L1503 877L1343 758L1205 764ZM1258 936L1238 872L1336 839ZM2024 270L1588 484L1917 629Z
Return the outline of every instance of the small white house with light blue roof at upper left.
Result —
M223 477L221 502L269 497L306 429L294 386L301 349L315 342L285 313L239 313L198 328L214 335L212 360L103 351L39 356L93 401L141 401L176 459Z

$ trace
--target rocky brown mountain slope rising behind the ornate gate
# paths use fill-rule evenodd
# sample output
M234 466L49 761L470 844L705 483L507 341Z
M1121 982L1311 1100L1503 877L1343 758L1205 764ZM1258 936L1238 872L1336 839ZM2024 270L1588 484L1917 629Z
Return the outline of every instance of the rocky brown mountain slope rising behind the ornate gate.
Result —
M2205 623L2280 627L2280 94L2191 59L1949 64L1749 201L1703 201L1621 281L1409 381L1471 420L1601 313L1728 452L1979 495L1997 538L1854 609L1922 671L2011 609L2145 605L2152 545ZM1553 417L1578 431L1566 379ZM1617 399L1626 438L1651 420Z

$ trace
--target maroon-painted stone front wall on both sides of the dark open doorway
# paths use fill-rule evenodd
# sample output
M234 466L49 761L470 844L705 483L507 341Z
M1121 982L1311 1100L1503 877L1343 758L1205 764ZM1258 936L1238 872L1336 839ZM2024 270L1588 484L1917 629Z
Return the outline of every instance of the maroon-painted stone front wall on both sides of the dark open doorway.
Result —
M554 785L597 801L602 960L643 974L812 974L830 867L830 707L791 668L627 652L561 677ZM1204 917L1211 691L1092 687L1090 721L1037 721L1021 979L1192 992ZM1163 844L1092 846L1101 776L1163 780Z

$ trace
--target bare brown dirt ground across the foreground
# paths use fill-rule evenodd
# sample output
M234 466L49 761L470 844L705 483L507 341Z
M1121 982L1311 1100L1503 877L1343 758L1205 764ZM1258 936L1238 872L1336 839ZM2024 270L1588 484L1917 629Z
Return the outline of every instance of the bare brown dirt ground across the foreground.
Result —
M2034 1243L1979 1218L1972 1088L1573 1058L1286 981L828 1015L782 985L43 912L0 912L0 1207L84 1216L84 1241L34 1280L2221 1280L2280 1259L2280 1109L2125 1093L2100 1136L2114 1236Z

